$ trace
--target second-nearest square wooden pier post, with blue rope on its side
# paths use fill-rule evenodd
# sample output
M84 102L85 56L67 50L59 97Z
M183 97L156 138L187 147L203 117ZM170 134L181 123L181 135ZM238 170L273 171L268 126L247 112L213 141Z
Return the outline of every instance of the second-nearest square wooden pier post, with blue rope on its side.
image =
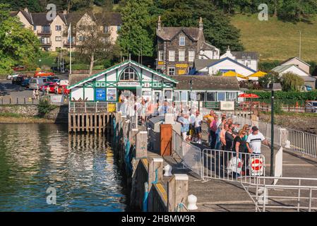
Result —
M153 210L153 191L151 191L153 184L161 182L163 179L163 158L152 157L148 165L148 211Z

